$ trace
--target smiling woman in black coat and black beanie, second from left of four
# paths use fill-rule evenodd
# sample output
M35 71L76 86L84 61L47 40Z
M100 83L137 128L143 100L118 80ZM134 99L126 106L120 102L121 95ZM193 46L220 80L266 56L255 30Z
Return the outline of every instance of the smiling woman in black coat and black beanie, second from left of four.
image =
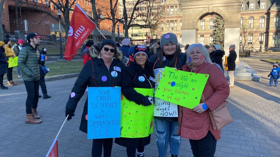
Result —
M133 101L138 105L149 106L148 95L142 95L134 90L134 88L154 89L154 72L150 64L147 64L147 50L143 45L137 45L134 48L134 63L124 67L122 72L121 92L126 99ZM139 80L138 78L144 78ZM135 79L136 78L136 79ZM145 129L145 128L139 128ZM142 138L116 138L115 143L126 147L127 157L135 157L137 149L137 157L144 157L144 148L151 141L151 135Z

